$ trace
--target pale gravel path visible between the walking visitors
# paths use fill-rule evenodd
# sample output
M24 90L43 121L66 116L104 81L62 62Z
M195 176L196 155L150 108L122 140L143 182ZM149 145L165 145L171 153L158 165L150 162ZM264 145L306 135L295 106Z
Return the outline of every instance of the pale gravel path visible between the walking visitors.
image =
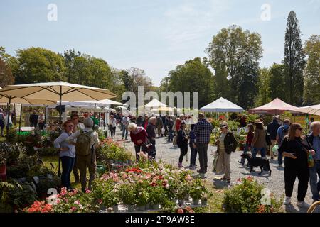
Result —
M121 140L121 132L117 131L116 138L114 140L122 143L128 150L131 150L133 154L134 152L134 145L130 141L130 137L128 136L128 140L122 141ZM171 165L178 167L178 157L180 155L180 149L174 148L172 143L168 143L167 138L156 138L156 160L164 160L164 162L167 162ZM223 177L223 175L216 175L213 170L213 153L215 152L216 147L215 146L209 146L208 148L208 172L206 173L206 179L212 180L215 187L226 187L225 183L220 181L220 177ZM188 162L186 161L186 156L183 159L183 166L188 167L190 164L190 149L188 150ZM272 175L269 176L269 172L263 172L262 175L258 175L260 172L260 168L255 168L256 172L249 172L249 169L247 167L243 167L238 163L240 160L240 155L242 154L242 151L237 151L232 154L231 156L231 184L235 183L237 179L241 177L246 176L252 176L255 179L257 179L258 182L265 184L265 187L267 189L270 189L271 192L280 198L282 195L284 195L284 169L278 168L277 166L277 160L270 160L270 167L272 170ZM199 166L198 163L198 157L196 164ZM196 169L198 170L198 169ZM195 175L197 174L196 170L194 170ZM299 209L299 207L296 205L297 202L297 187L298 187L298 181L296 180L296 183L294 184L294 192L292 195L292 205L284 206L284 210L291 213L303 213L306 212L307 209ZM306 199L307 204L312 203L312 194L310 191L310 187L308 187L308 192L306 193ZM319 212L320 209L317 209L317 212Z

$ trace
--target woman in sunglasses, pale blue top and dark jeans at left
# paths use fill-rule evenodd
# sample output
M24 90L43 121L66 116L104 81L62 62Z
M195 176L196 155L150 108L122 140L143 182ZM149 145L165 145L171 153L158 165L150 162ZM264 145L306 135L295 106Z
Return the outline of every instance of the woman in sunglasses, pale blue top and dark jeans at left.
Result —
M60 159L62 163L61 184L68 190L73 190L70 183L70 174L75 164L75 145L65 141L70 135L73 134L73 122L65 121L63 123L64 131L55 139L54 146L60 151ZM75 141L74 141L75 142Z

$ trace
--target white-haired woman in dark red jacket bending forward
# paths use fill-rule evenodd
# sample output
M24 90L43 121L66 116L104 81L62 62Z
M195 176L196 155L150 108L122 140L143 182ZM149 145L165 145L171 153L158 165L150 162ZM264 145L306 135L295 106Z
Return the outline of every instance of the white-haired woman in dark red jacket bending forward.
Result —
M146 143L148 134L143 127L137 127L135 123L129 123L128 131L130 132L131 141L134 143L134 150L136 151L136 160L139 160L139 153L142 151L146 153Z

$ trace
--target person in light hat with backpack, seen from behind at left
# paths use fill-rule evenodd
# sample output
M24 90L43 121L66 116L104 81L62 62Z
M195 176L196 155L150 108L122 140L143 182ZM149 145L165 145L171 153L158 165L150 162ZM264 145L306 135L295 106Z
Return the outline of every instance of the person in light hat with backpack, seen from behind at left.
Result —
M87 189L87 168L89 169L89 186L91 190L91 184L95 179L95 173L97 168L97 161L95 157L95 148L99 145L99 138L95 131L92 130L93 121L91 118L85 118L83 121L85 129L80 129L70 135L66 139L68 143L75 145L75 155L77 156L77 165L80 170L80 182L82 192ZM73 140L76 139L76 143Z

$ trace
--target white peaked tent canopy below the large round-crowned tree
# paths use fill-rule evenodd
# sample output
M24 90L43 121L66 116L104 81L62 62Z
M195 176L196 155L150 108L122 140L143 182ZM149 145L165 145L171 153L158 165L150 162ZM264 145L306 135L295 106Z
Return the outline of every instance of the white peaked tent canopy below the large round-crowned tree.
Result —
M203 106L200 110L203 112L231 113L242 112L243 108L221 97L213 103Z

